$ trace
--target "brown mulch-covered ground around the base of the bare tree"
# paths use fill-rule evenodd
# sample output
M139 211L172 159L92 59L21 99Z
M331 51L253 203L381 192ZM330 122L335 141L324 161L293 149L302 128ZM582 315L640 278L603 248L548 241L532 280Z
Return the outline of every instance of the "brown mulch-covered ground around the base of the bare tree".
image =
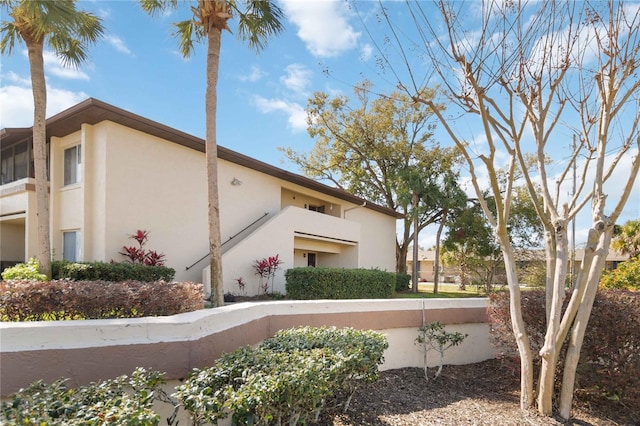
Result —
M640 425L640 407L579 398L569 422L541 417L520 409L519 392L519 374L498 360L445 366L429 381L421 368L388 370L356 391L346 414L327 416L317 426Z

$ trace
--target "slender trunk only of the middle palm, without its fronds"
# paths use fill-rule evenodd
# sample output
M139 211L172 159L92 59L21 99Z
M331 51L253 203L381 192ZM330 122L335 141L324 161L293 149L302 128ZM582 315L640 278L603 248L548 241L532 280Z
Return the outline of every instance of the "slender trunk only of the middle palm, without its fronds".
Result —
M211 271L211 302L214 307L224 305L222 282L222 249L220 237L220 204L218 201L218 146L216 142L216 109L218 68L222 31L209 28L207 43L207 89L206 89L206 145L207 201L209 222L209 253Z

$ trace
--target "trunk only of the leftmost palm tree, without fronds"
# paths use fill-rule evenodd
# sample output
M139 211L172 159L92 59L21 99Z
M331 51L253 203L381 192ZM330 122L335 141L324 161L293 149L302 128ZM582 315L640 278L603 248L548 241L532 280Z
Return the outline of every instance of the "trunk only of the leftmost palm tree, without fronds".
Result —
M47 179L47 86L44 78L43 45L27 46L33 92L33 163L36 178L36 222L40 272L51 278L49 229L49 185Z

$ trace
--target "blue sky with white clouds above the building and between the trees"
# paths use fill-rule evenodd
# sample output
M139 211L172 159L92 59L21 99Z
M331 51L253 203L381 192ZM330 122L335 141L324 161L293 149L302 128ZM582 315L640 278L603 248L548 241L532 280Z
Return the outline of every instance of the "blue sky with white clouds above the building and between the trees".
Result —
M377 91L389 93L396 80L381 72L378 52L363 26L364 21L375 37L388 32L376 19L377 2L359 1L359 14L341 0L279 0L279 4L287 16L285 31L261 53L250 50L235 34L223 34L218 144L298 172L278 147L306 152L313 146L305 113L313 92L351 96L353 85L367 78ZM386 5L397 19L407 19L406 11L396 8L398 3ZM197 46L194 56L184 59L171 34L171 23L186 19L187 9L153 18L132 0L84 0L79 7L103 19L105 37L77 70L62 67L53 54L45 54L47 115L93 97L204 137L205 47ZM412 25L407 23L406 28ZM235 31L233 21L230 26ZM0 61L0 128L30 127L33 101L26 49L18 46ZM439 140L449 143L444 134ZM627 206L621 222L640 217L640 183ZM587 224L588 214L582 215L578 244ZM431 247L433 234L430 230L421 234L420 245Z

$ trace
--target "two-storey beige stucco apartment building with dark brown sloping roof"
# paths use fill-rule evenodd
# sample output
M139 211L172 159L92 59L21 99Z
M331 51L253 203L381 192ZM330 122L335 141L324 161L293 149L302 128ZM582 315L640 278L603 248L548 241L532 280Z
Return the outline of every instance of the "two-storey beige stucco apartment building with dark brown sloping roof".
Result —
M0 130L0 262L37 252L31 128ZM204 140L96 99L47 120L54 259L123 261L138 229L178 281L208 291ZM274 290L297 266L395 270L393 210L218 146L226 292L278 255Z

